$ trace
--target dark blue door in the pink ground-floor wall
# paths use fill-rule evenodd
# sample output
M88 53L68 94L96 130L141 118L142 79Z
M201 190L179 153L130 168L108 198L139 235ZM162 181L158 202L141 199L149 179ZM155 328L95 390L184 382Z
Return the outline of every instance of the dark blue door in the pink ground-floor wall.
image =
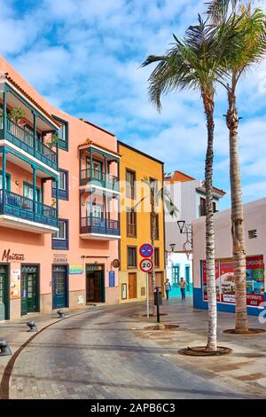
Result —
M52 269L52 308L67 307L67 265L53 265Z

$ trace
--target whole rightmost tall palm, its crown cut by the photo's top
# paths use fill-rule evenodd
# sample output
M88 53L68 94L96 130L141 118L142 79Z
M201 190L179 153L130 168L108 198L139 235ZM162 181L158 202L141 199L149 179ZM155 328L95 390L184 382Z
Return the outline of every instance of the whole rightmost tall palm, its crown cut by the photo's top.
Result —
M252 11L250 1L215 0L208 3L207 13L216 28L226 25L235 32L237 47L231 49L224 69L230 74L230 81L223 83L227 90L228 110L226 114L230 141L231 178L231 236L234 261L236 295L235 332L248 333L246 311L246 242L244 210L239 165L239 112L236 91L239 80L254 64L262 61L266 52L265 20L261 9ZM236 24L237 21L237 24Z

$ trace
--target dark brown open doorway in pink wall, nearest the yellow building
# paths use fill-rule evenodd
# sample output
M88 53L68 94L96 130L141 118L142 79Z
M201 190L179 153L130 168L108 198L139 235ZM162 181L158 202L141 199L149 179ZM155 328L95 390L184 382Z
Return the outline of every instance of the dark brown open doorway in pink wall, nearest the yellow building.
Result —
M86 265L86 303L105 303L105 265Z

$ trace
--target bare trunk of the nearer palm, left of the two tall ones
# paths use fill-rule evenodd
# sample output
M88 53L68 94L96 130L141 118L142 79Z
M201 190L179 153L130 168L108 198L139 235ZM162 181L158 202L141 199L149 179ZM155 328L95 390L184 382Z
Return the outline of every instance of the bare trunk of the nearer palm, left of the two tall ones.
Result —
M214 164L214 95L202 93L204 110L207 116L207 154L205 164L206 188L206 271L208 332L207 350L217 350L217 299L215 287L215 227L213 209L213 164Z

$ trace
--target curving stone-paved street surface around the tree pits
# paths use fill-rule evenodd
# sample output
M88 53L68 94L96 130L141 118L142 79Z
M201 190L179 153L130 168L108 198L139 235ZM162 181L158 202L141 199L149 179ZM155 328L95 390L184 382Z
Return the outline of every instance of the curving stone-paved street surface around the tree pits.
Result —
M163 321L176 331L145 331L141 303L91 308L38 334L17 359L12 398L266 397L265 334L221 333L233 315L219 313L219 344L233 354L188 358L176 354L206 342L207 312L190 301L164 302ZM137 317L132 317L139 313ZM259 327L256 318L250 325ZM262 325L260 326L262 327Z

